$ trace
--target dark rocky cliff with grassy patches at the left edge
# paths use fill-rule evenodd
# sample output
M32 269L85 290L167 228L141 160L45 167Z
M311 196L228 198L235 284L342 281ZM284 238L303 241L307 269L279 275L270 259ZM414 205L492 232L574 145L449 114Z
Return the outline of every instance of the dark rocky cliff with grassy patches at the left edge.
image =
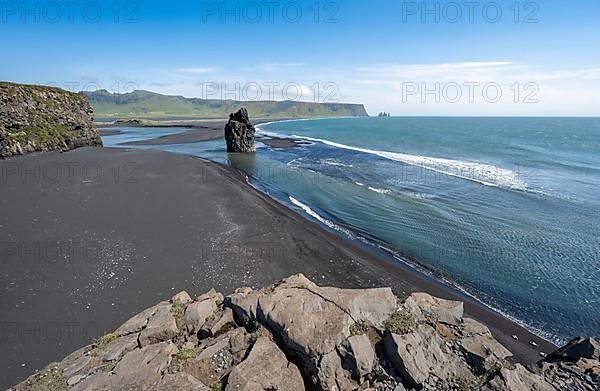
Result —
M87 99L58 88L0 83L0 158L101 146Z

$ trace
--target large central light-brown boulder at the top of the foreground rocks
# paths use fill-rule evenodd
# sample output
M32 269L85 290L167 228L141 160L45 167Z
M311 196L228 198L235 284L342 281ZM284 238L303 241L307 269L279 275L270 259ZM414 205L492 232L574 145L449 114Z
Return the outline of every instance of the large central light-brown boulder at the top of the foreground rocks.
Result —
M315 387L330 389L350 377L337 368L351 326L383 329L396 298L391 289L322 288L297 275L258 292L239 290L230 304L239 318L264 324L294 352Z

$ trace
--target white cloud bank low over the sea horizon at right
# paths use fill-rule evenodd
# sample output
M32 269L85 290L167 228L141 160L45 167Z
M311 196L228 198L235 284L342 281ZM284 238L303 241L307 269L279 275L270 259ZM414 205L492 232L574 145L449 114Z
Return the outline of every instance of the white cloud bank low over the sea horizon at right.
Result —
M355 68L352 73L340 72L338 77L344 80L340 83L344 95L365 103L372 112L598 115L593 99L600 92L597 67L557 68L514 61L383 63ZM489 85L492 88L486 90ZM498 88L502 94L496 101ZM457 92L460 99L455 101Z

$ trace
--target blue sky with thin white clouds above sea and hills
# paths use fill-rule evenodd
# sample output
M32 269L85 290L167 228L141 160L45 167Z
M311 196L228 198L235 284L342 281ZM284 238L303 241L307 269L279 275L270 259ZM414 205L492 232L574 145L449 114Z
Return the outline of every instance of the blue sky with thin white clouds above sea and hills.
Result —
M371 114L600 115L600 2L467 3L3 2L0 79Z

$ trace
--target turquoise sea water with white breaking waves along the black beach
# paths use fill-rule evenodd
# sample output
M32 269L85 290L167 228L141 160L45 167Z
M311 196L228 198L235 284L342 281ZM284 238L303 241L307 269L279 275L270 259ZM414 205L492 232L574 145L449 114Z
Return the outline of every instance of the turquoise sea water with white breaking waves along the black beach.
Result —
M256 156L228 155L220 140L152 148L236 166L308 218L388 249L551 340L600 334L600 119L259 128L304 144L262 146Z

